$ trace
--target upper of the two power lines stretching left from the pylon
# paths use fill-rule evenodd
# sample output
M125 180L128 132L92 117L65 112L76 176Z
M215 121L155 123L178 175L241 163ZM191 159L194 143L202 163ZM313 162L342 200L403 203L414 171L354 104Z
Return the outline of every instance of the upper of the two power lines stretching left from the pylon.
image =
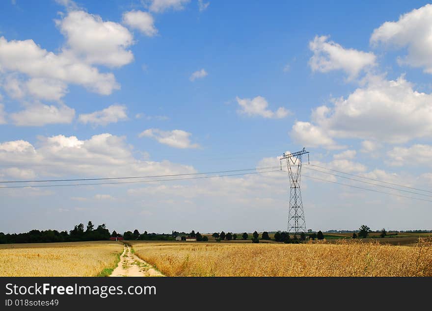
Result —
M35 180L35 181L0 181L0 183L21 183L21 182L57 182L57 181L105 181L105 180L119 180L119 179L139 179L139 178L155 178L155 177L176 177L176 176L190 176L190 175L208 175L208 174L222 174L222 173L233 173L253 170L264 170L278 168L279 166L267 166L267 167L256 167L246 168L241 170L228 170L228 171L216 171L216 172L204 172L204 173L185 173L185 174L170 174L170 175L152 175L152 176L133 176L133 177L107 177L107 178L79 178L79 179L54 179L54 180ZM4 187L3 187L4 188Z

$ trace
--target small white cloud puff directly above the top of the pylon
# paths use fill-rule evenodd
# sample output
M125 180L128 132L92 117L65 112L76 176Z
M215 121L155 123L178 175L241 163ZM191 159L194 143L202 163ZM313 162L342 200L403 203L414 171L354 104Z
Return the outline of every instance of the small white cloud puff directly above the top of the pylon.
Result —
M341 149L328 133L309 122L297 121L291 130L291 138L297 143L310 148L324 147L327 149Z

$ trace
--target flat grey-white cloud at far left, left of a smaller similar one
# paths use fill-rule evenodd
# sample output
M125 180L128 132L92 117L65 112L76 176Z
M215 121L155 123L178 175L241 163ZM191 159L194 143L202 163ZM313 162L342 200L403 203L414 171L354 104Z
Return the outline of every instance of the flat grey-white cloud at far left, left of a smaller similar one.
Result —
M43 126L46 124L69 124L75 110L66 105L59 107L46 104L33 104L25 110L11 113L10 118L18 126Z

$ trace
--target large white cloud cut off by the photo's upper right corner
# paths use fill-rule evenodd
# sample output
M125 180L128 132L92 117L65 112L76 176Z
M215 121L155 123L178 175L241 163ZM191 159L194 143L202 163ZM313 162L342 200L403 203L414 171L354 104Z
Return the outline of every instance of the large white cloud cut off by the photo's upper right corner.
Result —
M382 43L395 48L407 48L400 64L422 67L432 74L432 5L402 15L397 22L385 22L374 30L371 44Z

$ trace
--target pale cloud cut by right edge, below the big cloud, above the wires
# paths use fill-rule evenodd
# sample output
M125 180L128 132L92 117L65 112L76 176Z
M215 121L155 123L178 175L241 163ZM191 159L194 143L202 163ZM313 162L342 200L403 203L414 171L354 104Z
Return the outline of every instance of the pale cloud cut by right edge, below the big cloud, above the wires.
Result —
M432 146L416 144L411 147L395 147L387 155L390 164L401 166L406 164L422 164L432 166Z

